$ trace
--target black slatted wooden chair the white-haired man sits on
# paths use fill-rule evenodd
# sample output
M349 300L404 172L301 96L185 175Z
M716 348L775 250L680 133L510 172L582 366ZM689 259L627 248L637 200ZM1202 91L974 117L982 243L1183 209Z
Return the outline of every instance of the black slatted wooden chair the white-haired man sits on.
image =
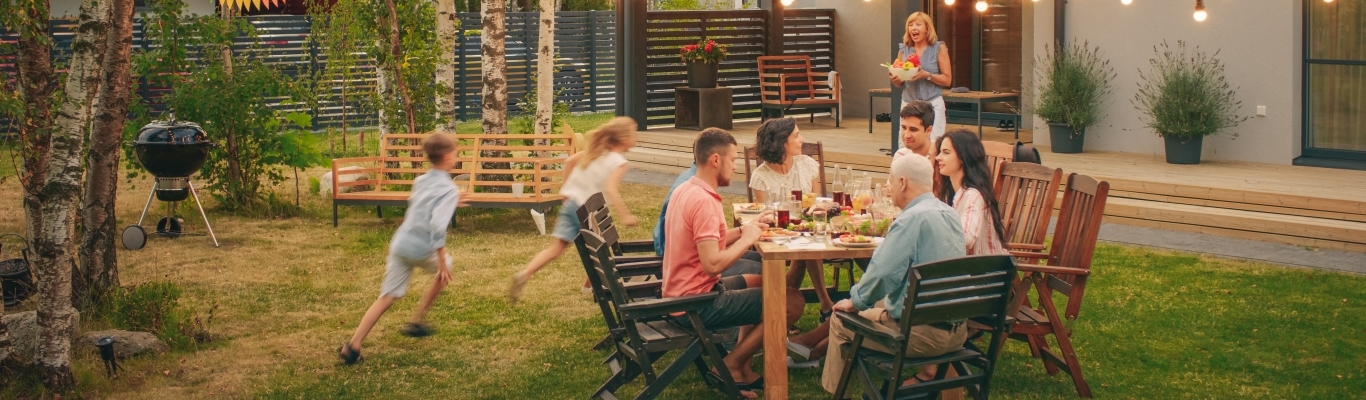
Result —
M907 274L906 306L897 319L900 329L889 330L854 313L835 314L854 330L854 340L840 348L846 367L835 399L844 399L855 374L865 399L936 399L940 392L953 388L966 388L973 399L988 399L996 359L1008 332L1007 307L1015 261L1008 255L971 255L917 265ZM967 345L938 356L906 356L908 341L914 340L911 326L970 318L990 328L986 352ZM866 341L892 352L866 348ZM915 374L932 365L938 366L934 380L902 386L904 371ZM958 377L948 377L949 367ZM882 378L876 380L874 374Z

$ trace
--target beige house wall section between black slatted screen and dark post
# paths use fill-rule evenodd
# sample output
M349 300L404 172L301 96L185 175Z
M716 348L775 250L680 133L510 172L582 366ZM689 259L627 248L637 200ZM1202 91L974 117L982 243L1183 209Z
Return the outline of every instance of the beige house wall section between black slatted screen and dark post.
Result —
M869 117L867 90L889 87L887 68L889 63L891 35L888 5L885 1L858 0L794 0L787 8L833 8L835 10L835 70L840 72L844 85L841 96L846 116ZM887 98L873 101L874 112L891 112Z

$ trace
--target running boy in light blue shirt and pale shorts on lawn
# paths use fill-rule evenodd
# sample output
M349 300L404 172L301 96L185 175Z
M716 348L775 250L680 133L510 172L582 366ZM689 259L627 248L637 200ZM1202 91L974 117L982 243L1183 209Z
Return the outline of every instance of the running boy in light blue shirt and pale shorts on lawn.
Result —
M403 224L389 240L388 266L384 270L384 284L380 298L370 304L361 318L355 336L337 349L337 356L347 365L362 360L361 343L370 333L380 315L393 306L393 300L408 291L408 278L414 269L436 274L422 302L418 303L413 319L403 328L403 334L422 337L432 329L422 322L432 302L451 283L451 257L445 254L445 231L451 227L455 208L460 203L460 191L451 182L451 168L455 168L455 141L443 134L433 134L422 141L422 152L432 161L432 169L413 180L413 195L408 197L408 210Z

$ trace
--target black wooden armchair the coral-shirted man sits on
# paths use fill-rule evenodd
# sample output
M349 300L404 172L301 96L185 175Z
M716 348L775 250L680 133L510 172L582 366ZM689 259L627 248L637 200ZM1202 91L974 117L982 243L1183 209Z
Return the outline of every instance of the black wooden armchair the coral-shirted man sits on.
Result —
M605 227L605 229L585 227L579 231L579 238L583 238L583 244L590 253L593 273L608 289L608 304L613 310L613 317L620 321L617 328L612 328L613 352L605 362L612 370L612 377L598 386L590 399L617 399L615 393L617 389L642 375L645 377L645 388L635 399L654 399L688 366L695 366L703 381L709 381L709 367L705 359L712 360L712 366L717 370L716 377L721 380L719 384L713 382L713 386L721 386L728 397L740 399L739 388L731 378L725 363L721 362L724 356L721 343L728 339L708 330L697 314L698 309L710 306L719 294L708 292L668 299L634 298L627 291L616 268L616 257L612 254L612 246L617 240L612 217L590 213L589 218L601 221L597 227ZM667 319L672 313L684 313L687 317L686 329L680 326L682 324L676 325ZM680 352L664 370L656 370L654 362L672 351Z

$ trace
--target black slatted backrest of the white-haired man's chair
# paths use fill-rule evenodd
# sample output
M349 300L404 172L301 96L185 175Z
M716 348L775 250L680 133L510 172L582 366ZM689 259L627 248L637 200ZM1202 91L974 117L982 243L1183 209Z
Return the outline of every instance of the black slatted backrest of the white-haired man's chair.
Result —
M902 333L915 325L968 318L1004 324L1015 259L968 255L915 265L907 274Z

